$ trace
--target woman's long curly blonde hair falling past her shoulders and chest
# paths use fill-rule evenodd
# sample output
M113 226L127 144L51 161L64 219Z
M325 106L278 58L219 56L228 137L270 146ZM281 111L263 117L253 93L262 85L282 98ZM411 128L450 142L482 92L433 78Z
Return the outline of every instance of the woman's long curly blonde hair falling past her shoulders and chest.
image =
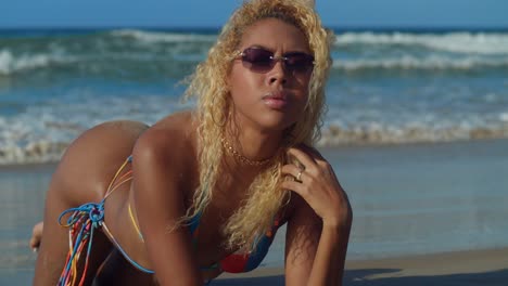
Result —
M282 190L281 167L288 162L285 150L304 143L314 145L320 136L325 113L325 83L331 66L330 46L333 34L325 29L314 9L303 0L252 0L244 2L224 26L207 58L198 65L190 77L186 98L196 99L200 186L192 206L182 221L202 213L213 197L220 177L224 146L217 138L224 136L231 106L227 79L242 35L257 21L278 18L292 24L305 35L315 66L309 81L308 101L303 116L284 136L281 151L252 182L246 202L229 218L224 227L227 246L252 251L256 239L272 225L275 216L289 200L289 191Z

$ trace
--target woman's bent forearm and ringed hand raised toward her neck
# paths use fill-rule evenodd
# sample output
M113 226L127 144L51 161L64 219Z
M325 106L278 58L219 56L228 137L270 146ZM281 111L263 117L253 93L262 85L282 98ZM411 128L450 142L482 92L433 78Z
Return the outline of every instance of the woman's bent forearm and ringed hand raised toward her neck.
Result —
M353 212L330 164L316 151L305 151L290 150L305 170L291 164L282 168L300 179L283 183L297 194L288 222L285 282L342 285Z

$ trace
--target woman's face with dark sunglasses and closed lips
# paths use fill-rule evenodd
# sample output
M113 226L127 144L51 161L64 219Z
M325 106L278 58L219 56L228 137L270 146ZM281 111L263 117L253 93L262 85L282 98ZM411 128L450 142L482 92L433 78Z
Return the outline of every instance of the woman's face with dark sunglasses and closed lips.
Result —
M236 122L262 132L281 131L296 122L307 102L313 68L304 34L291 24L266 18L245 29L238 50L245 55L233 61L229 75ZM289 60L272 62L271 53ZM262 65L249 62L253 60Z

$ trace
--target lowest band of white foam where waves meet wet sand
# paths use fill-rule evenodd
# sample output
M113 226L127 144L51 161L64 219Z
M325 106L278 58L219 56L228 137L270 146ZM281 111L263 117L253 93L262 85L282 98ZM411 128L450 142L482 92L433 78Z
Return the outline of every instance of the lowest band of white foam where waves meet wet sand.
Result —
M355 129L345 130L338 126L330 126L322 131L321 139L316 146L319 150L344 148L377 148L377 147L407 147L432 146L446 144L474 144L475 142L508 141L508 126L498 130L442 130L432 132L423 129L408 129L405 131L390 129ZM69 143L68 143L69 144ZM41 146L30 148L0 146L0 170L9 168L23 168L27 166L56 165L68 144L45 142Z

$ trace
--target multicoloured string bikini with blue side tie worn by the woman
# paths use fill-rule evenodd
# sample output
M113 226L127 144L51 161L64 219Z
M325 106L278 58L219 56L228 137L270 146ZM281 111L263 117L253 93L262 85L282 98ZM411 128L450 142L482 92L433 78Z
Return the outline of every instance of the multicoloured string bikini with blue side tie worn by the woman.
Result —
M106 224L104 223L104 202L110 196L110 194L115 191L119 185L132 180L132 170L126 171L124 174L119 176L122 171L125 169L127 164L132 161L132 156L129 156L122 167L116 171L115 177L111 181L106 194L104 198L100 203L88 203L81 205L77 208L69 208L64 210L59 217L59 224L65 227L69 227L69 250L67 253L67 259L65 266L62 271L62 274L59 280L59 284L61 286L64 285L76 285L77 282L77 264L80 258L81 252L87 249L86 257L85 257L85 269L81 273L81 278L79 285L82 285L86 273L88 270L88 259L90 257L90 250L92 246L93 233L97 229L102 229L111 238L111 240L115 244L116 248L123 253L123 256L129 261L134 266L139 269L142 272L153 274L153 270L149 270L143 268L142 265L138 264L135 260L132 260L127 252L122 248L122 246L117 243L113 234L107 229ZM130 205L128 206L130 219L140 236L143 239L141 232L139 231L138 224L134 219L132 211L130 209ZM67 218L67 221L64 223L62 222L62 218L65 214L71 214ZM189 223L190 232L192 235L192 243L196 246L198 243L198 235L199 235L199 225L201 221L201 213L193 217ZM202 268L203 271L206 270L216 270L219 269L224 272L229 273L240 273L240 272L247 272L256 269L263 259L265 258L268 249L274 240L275 234L280 226L280 218L276 217L274 219L274 223L270 230L267 230L265 235L257 239L257 245L254 250L250 253L231 253L225 257L217 263L212 264L208 268ZM195 248L195 247L194 247Z

